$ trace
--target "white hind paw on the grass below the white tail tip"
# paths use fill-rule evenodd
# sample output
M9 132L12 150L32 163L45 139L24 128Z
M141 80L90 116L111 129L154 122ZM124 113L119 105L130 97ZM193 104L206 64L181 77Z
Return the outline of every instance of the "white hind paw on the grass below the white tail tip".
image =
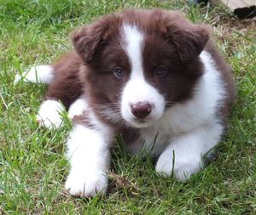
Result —
M56 100L45 100L38 110L37 123L39 127L50 129L61 127L61 112L65 108Z

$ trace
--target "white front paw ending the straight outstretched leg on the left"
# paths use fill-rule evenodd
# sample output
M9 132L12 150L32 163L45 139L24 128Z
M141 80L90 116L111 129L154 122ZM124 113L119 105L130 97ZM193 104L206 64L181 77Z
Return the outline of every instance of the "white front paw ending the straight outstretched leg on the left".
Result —
M70 195L93 197L96 194L106 194L108 178L102 171L98 173L69 173L65 189Z

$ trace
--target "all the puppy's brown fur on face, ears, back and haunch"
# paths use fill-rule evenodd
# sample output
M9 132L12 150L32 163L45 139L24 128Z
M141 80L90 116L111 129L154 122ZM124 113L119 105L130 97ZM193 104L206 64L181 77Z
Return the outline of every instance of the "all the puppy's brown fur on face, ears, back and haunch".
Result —
M124 127L121 118L119 123L109 122L97 111L99 105L119 104L119 92L130 76L130 61L120 45L123 41L120 41L119 29L123 22L137 25L146 32L144 74L147 81L165 96L167 106L193 97L192 89L203 71L199 54L206 48L227 83L228 98L220 110L225 118L233 99L232 78L223 57L208 41L207 27L191 24L180 13L161 9L125 10L104 16L73 32L75 51L55 62L55 81L49 85L47 98L60 99L68 109L84 93L102 122L113 124L117 129ZM154 75L158 65L168 69L166 76ZM121 80L113 76L113 70L119 66L125 70Z

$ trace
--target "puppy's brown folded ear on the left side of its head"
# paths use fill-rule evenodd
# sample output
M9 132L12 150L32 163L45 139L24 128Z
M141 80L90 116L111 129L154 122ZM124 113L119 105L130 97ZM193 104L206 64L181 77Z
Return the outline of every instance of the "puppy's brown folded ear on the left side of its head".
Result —
M117 20L113 16L109 15L96 20L91 25L84 25L71 34L73 47L81 58L84 59L84 62L88 63L93 59L97 48L103 46L108 41L111 28L113 28L113 22Z

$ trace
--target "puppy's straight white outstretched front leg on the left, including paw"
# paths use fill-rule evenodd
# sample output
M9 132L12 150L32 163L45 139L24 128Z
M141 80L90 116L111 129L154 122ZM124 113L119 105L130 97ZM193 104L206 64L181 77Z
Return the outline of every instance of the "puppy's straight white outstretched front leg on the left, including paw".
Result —
M74 125L67 141L70 171L65 188L84 197L105 194L108 187L109 147L112 131L101 122Z

